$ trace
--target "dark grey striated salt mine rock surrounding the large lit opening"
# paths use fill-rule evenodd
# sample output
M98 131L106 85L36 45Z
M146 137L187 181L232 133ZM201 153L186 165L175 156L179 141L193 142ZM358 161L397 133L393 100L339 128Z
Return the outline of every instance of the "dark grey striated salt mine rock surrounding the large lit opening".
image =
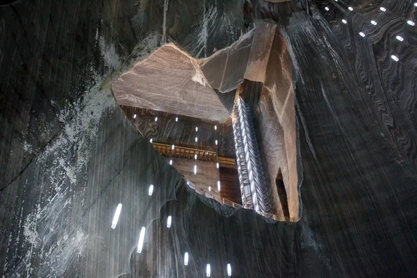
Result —
M330 1L311 15L295 1L0 6L0 275L203 277L210 263L211 277L225 277L231 263L232 277L415 276L417 42L404 18L416 22L416 10L349 4L355 13L326 12ZM111 92L165 42L204 58L257 20L277 23L293 66L296 223L197 195Z

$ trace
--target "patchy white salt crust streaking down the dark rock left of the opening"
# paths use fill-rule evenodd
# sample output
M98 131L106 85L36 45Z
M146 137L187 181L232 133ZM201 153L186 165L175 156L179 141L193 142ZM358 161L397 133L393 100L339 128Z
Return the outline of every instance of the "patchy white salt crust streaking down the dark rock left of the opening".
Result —
M103 63L110 74L113 69L120 67L121 59L115 54L114 45L106 45L106 40L98 31L96 39ZM136 46L129 58L133 60L133 56L136 56L142 59L149 55L157 42L156 34L149 35ZM74 225L70 231L61 231L62 222L67 222L68 219L60 216L72 210L73 200L77 202L74 206L83 206L85 188L73 193L73 185L80 182L81 173L88 167L91 145L97 136L101 117L117 108L110 88L104 86L108 74L101 76L92 66L86 68L84 76L80 78L90 76L89 89L80 94L83 97L68 104L56 115L63 123L63 129L33 161L33 167L42 169L49 180L40 181L36 189L24 188L23 193L41 195L36 197L35 204L28 204L35 206L35 209L29 210L31 213L27 213L25 206L22 206L18 219L15 220L21 229L17 235L9 235L7 250L13 252L13 255L6 257L8 259L4 261L2 271L17 277L62 277L67 266L83 256L88 235L85 235L81 225ZM27 142L23 147L26 151L31 150L31 145ZM43 196L42 190L49 188L49 185L52 185L53 191L50 195ZM79 218L74 222L81 223L82 213L74 217ZM46 246L49 246L49 250L44 250ZM13 263L17 254L22 254L19 255L19 263ZM40 257L39 266L33 264L33 254ZM10 269L12 265L13 269Z

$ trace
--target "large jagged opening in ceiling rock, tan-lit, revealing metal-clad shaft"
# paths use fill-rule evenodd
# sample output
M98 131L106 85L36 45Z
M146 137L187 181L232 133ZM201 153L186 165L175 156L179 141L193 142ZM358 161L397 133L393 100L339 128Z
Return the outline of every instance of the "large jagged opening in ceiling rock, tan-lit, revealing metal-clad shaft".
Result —
M112 91L133 126L197 193L296 222L291 60L275 27L259 24L204 59L164 44Z

